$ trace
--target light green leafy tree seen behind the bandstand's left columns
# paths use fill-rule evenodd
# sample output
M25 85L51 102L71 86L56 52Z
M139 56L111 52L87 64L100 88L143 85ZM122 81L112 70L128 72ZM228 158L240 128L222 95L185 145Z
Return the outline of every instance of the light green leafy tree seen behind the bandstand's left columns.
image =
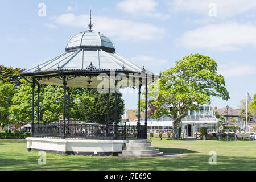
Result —
M10 113L13 115L14 121L31 121L32 119L32 84L26 80L21 80L22 84L17 89L13 97L13 105L10 106ZM35 86L35 103L34 115L37 120L37 90ZM39 121L40 122L57 122L63 118L63 88L57 86L40 85L39 94ZM92 98L86 97L81 89L71 89L71 112L72 119L82 119L80 114L77 114L79 103L82 101L92 104ZM66 106L68 99L66 100ZM66 112L67 113L67 112ZM67 113L68 114L68 113ZM67 115L66 115L67 118Z

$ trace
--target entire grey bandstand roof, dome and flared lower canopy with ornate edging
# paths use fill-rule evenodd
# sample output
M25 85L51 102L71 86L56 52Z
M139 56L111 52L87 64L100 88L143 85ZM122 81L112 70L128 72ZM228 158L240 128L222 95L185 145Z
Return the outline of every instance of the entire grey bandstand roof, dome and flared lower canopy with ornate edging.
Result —
M29 82L33 77L44 85L63 86L62 75L67 76L68 87L97 88L96 76L100 73L155 73L144 69L125 57L115 53L115 46L108 36L101 32L87 30L69 39L65 52L36 67L27 69L21 75ZM154 81L154 77L152 78ZM150 84L150 82L148 82Z

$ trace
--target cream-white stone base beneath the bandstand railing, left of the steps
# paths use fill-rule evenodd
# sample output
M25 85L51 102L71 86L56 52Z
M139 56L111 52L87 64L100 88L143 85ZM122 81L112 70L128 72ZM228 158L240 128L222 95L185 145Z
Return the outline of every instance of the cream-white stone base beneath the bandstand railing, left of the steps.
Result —
M55 152L56 154L109 156L122 152L126 140L71 140L28 137L27 151Z

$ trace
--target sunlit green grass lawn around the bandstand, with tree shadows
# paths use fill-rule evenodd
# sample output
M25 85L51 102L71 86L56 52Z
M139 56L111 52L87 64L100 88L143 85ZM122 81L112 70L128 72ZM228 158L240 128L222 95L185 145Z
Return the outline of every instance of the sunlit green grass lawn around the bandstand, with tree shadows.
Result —
M255 170L255 142L173 141L153 138L162 152L185 154L177 158L121 159L116 156L87 157L46 154L38 164L38 152L26 151L25 140L0 140L0 170ZM209 151L217 164L210 165Z

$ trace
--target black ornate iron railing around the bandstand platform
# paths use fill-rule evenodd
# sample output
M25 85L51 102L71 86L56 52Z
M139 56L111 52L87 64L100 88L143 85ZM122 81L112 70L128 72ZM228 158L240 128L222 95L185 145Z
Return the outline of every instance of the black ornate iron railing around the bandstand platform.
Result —
M125 140L146 139L146 126L104 124L32 123L32 137L65 139ZM116 131L116 132L115 132Z

